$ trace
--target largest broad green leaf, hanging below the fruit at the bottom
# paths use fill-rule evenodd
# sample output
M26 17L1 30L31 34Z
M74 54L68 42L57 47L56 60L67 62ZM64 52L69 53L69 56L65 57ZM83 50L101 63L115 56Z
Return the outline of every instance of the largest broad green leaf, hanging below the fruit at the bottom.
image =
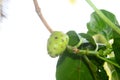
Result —
M60 56L57 69L56 80L94 80L88 66L81 56L69 54L67 51Z

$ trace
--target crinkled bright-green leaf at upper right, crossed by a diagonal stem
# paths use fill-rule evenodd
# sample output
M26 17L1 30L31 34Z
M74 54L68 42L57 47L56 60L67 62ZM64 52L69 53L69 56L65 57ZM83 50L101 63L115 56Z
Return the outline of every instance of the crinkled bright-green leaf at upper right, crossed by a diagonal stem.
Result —
M118 24L118 21L114 14L108 12L106 10L101 10L102 13L110 19L114 24ZM112 28L106 24L96 12L91 14L90 22L87 23L88 34L95 35L95 34L102 34L106 38L106 40L110 40L113 38Z

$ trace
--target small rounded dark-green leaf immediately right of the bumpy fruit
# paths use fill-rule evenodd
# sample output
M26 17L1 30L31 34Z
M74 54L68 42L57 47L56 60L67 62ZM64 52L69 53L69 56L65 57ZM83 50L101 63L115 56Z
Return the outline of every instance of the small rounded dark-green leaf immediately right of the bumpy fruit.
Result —
M76 46L80 42L79 35L75 31L69 31L67 32L67 35L69 36L68 45Z

